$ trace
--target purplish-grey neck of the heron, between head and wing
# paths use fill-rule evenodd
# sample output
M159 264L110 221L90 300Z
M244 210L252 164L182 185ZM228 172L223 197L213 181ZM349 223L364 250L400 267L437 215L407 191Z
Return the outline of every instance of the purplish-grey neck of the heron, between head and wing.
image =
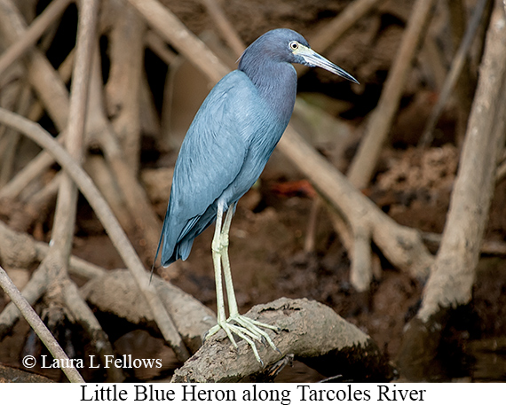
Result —
M246 66L248 64L245 64ZM294 110L296 99L296 70L287 62L265 61L252 64L253 68L240 66L249 80L257 87L273 112L288 124Z

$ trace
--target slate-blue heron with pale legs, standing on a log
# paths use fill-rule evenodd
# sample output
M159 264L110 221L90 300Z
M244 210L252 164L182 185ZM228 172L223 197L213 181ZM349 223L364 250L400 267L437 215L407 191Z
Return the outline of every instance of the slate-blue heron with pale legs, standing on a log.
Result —
M186 260L194 239L216 221L211 250L217 325L206 338L223 329L237 347L235 334L249 343L258 362L262 361L255 341L267 342L277 350L263 329L278 328L239 314L228 260L228 232L237 201L257 181L289 124L297 81L292 63L320 66L358 83L351 74L312 51L295 31L281 28L260 36L242 53L239 68L210 91L186 133L158 245L164 267L178 259Z

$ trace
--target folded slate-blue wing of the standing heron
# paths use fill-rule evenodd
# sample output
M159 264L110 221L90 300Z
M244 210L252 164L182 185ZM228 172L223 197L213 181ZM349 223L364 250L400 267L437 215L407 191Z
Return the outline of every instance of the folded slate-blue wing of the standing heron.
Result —
M240 173L254 125L248 100L254 100L255 91L245 74L234 71L217 83L195 115L174 168L161 237L164 266L186 259L194 238L214 221L217 199Z

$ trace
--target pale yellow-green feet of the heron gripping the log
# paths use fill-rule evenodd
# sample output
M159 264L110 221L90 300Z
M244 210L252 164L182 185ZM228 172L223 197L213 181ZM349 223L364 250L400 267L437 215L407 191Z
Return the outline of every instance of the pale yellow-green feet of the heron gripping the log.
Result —
M273 331L279 331L280 328L277 326L272 326L267 323L258 322L254 319L250 319L247 316L236 314L231 315L225 322L217 323L217 325L213 326L204 336L204 339L208 339L210 336L214 335L220 329L223 329L226 333L226 336L233 344L233 347L237 348L237 343L233 338L233 333L239 336L241 339L246 340L249 344L249 347L253 350L253 354L255 354L255 358L258 362L264 365L262 359L260 359L260 355L258 354L257 345L255 344L255 340L260 341L262 343L267 343L270 347L273 348L276 352L280 353L280 350L274 345L273 340L269 337L269 335L262 331L260 328L271 329Z

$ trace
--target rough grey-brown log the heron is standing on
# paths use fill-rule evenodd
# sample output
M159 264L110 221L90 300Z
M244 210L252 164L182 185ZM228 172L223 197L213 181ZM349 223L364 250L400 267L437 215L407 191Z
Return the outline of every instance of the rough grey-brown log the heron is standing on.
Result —
M265 370L290 354L326 376L342 374L346 379L375 382L392 377L390 364L372 339L319 302L281 298L257 305L246 315L281 328L278 333L268 331L281 354L258 344L264 368L245 341L239 342L236 350L220 331L176 370L172 382L238 382L247 377L264 380Z

